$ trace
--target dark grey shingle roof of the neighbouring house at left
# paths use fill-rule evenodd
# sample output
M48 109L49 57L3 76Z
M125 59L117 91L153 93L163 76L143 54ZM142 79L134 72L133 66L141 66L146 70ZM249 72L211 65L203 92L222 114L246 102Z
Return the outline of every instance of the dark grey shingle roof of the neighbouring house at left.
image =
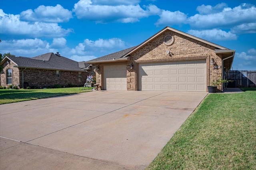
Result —
M8 57L18 67L28 67L37 69L54 69L54 70L68 70L68 71L83 71L79 68L77 61L68 59L61 55L56 55L54 53L46 53L43 55L38 55L36 57Z

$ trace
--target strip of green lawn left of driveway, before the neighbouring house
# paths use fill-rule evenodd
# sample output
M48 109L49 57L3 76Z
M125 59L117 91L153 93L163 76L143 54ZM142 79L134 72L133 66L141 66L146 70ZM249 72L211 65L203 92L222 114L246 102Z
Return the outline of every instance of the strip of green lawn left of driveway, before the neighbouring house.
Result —
M70 87L60 89L0 89L0 105L6 103L15 103L20 101L43 99L47 97L56 97L62 95L70 95L75 93L88 92L89 89L85 87Z

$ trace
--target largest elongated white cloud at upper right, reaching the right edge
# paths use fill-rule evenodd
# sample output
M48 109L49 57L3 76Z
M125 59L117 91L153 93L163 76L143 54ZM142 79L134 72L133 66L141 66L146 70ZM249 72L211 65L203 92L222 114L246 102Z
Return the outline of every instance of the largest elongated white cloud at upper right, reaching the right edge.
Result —
M202 12L202 9L200 10ZM196 14L188 18L188 24L193 28L220 28L237 26L255 22L256 8L254 5L241 4L232 8L224 8L213 14Z

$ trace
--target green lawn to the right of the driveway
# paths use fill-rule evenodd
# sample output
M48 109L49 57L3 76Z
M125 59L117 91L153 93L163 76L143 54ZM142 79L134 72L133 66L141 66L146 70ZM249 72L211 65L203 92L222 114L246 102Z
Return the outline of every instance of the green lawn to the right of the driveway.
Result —
M208 95L146 169L255 170L256 91L245 91Z

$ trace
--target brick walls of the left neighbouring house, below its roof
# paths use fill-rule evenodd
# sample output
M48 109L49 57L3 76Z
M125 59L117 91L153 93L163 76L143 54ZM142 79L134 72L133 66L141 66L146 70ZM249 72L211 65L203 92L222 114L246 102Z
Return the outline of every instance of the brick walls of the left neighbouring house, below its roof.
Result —
M12 69L12 85L20 85L22 87L22 82L28 83L28 87L52 87L53 85L76 85L84 86L86 82L87 75L89 73L81 71L82 81L78 81L78 71L62 71L60 70L60 77L56 76L56 70L44 70L44 69L25 69L14 67L14 63L7 61L3 64L3 71L1 72L1 86L8 87L6 84L6 70ZM23 81L22 81L22 71L23 71ZM94 73L92 71L92 73Z

